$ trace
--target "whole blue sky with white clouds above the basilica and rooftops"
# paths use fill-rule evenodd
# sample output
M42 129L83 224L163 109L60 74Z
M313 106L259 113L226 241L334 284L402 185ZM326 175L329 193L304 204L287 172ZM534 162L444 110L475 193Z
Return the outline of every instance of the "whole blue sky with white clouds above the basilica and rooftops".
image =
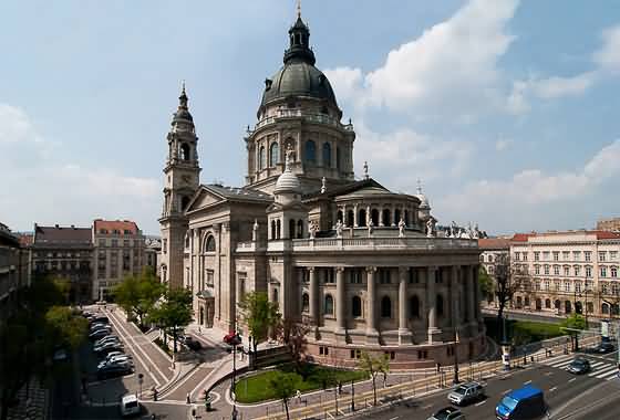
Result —
M355 175L490 234L618 217L620 3L303 0ZM0 222L159 231L182 81L200 180L242 186L245 127L293 0L0 2Z

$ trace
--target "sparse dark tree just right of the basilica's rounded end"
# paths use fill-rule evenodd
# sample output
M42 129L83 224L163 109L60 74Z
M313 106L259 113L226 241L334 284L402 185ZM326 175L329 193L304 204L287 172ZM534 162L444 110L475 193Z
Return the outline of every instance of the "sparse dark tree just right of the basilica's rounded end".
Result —
M497 323L502 325L502 337L504 337L504 309L506 304L513 300L515 292L521 288L528 280L527 272L520 266L510 263L510 255L499 254L494 262L494 287L497 297Z

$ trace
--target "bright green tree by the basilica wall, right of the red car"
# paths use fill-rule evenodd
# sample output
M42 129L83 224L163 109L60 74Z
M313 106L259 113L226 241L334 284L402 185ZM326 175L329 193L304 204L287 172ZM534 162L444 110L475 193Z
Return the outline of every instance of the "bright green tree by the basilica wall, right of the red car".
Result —
M278 304L269 302L265 292L246 293L239 303L239 311L252 336L256 354L258 345L269 337L269 330L276 329L280 323Z

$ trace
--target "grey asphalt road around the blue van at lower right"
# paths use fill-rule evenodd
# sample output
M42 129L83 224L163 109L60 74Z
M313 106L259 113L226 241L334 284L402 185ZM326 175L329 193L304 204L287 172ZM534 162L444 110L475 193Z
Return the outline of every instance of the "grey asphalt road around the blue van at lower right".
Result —
M550 408L551 419L619 419L620 418L620 380L603 380L590 376L576 377L562 368L535 365L512 375L490 379L486 384L486 398L479 402L462 408L469 420L495 420L495 406L505 393L531 384L545 392ZM410 401L404 405L358 418L378 420L420 419L431 417L443 407L448 407L450 390ZM600 416L600 417L599 417Z

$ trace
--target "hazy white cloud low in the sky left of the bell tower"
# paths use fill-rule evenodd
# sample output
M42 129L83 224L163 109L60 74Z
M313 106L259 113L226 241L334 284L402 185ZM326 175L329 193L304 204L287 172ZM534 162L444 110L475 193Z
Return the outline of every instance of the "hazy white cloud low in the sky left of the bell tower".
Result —
M89 225L95 217L155 225L159 181L61 161L49 153L28 114L0 104L0 167L6 170L0 220L12 229L33 222Z

